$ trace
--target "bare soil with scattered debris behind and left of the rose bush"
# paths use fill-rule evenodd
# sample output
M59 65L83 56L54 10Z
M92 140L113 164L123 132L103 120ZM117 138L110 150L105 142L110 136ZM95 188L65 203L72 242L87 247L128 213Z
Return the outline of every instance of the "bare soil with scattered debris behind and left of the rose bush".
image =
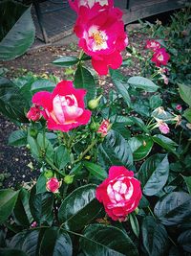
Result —
M139 46L143 50L145 35L134 33L129 38L132 46L137 48ZM0 67L9 70L7 76L10 78L20 77L31 71L35 75L53 74L60 79L65 79L64 69L52 64L53 60L60 56L78 56L77 46L72 43L64 46L46 46L33 49L22 57L0 62ZM128 58L128 56L123 57ZM138 75L138 63L135 62L131 63L131 66L122 67L121 71L126 75ZM106 77L100 78L98 83L104 86L105 92L108 92L113 85ZM8 145L11 131L15 129L17 128L14 124L0 115L0 187L15 187L22 183L28 185L28 182L30 183L39 175L39 170L29 151Z

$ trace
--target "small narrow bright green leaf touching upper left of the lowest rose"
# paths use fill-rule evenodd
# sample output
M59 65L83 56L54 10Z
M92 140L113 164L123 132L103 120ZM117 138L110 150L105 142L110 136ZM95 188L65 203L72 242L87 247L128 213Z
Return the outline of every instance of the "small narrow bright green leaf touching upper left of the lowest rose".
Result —
M104 180L105 178L107 178L107 172L104 169L102 169L99 165L96 165L88 161L84 161L83 164L86 167L86 169L88 169L88 171L91 173L91 175L95 175L100 180Z

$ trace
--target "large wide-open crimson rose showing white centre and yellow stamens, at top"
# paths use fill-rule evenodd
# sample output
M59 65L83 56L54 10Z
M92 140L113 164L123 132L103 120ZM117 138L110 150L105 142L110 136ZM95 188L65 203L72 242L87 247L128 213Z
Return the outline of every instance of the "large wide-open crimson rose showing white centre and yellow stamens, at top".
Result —
M92 65L99 75L107 75L109 67L117 69L122 63L120 52L128 44L124 32L122 12L112 4L98 2L90 8L80 6L74 25L79 47L92 57Z

